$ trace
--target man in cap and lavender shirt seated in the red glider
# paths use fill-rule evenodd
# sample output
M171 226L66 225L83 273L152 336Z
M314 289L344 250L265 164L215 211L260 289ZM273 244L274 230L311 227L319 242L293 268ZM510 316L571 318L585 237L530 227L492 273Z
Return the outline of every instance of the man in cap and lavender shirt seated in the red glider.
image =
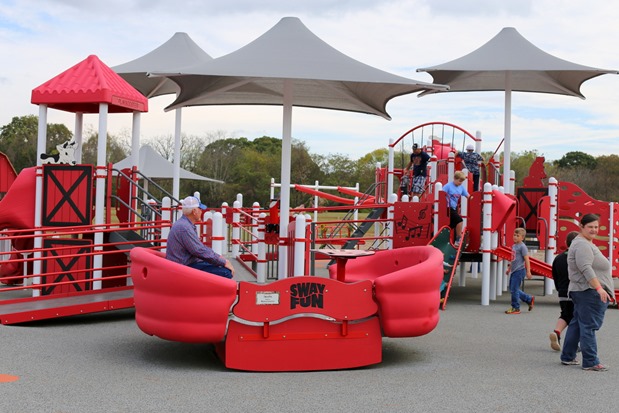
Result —
M206 205L195 196L182 201L183 216L172 225L168 235L166 258L201 271L232 278L234 267L229 260L202 244L196 232L196 222Z

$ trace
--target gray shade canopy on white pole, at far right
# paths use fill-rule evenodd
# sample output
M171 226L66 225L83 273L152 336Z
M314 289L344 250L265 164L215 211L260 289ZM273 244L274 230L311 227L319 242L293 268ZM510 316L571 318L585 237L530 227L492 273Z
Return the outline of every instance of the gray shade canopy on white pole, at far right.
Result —
M580 86L587 80L616 70L597 69L554 57L525 39L513 27L505 27L479 49L450 62L417 69L435 82L449 85L436 92L505 91L503 186L513 193L511 169L511 92L553 93L584 99Z

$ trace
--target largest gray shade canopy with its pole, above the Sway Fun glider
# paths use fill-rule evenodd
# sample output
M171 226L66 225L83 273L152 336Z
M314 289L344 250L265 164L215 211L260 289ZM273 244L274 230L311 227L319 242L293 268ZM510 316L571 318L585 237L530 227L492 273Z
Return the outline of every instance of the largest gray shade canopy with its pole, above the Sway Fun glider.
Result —
M168 110L197 105L283 106L279 277L287 276L292 107L335 109L390 119L386 111L390 99L447 89L354 60L325 43L296 17L281 19L262 36L230 54L158 75L174 80L181 89Z

